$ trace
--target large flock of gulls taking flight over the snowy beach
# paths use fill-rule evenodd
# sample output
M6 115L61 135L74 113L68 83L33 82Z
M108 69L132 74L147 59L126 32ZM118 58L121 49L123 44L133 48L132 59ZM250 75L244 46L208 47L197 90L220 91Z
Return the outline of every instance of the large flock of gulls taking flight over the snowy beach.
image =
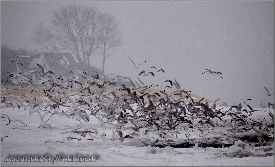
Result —
M133 68L138 69L146 61L138 66L133 60L131 62L134 65ZM228 132L233 134L255 131L259 140L267 141L274 138L274 124L268 122L266 118L260 122L249 118L254 111L257 111L246 104L246 101L250 99L243 101L250 108L250 111L243 110L249 114L245 115L242 112L233 110L233 108L237 109L237 106L232 106L227 110L223 110L223 108L216 110L204 104L202 102L204 98L194 100L189 94L191 91L182 89L175 79L164 80L164 82L168 83L165 89L173 88L174 91L172 93L168 94L165 89L164 91L160 90L159 92L151 93L149 88L154 86L144 85L139 78L140 83L134 83L130 77L117 76L131 82L131 87L127 87L123 83L114 82L113 80L117 77L111 80L108 79L107 75L104 76L99 73L89 74L86 71L82 73L70 71L73 76L65 77L58 76L53 71L46 71L39 64L37 66L41 69L41 72L40 77L36 79L27 78L20 72L10 73L7 82L21 84L22 90L25 85L32 85L33 90L30 92L25 91L21 97L15 97L12 96L12 93L8 93L9 89L1 84L1 103L13 108L18 107L18 109L23 107L30 111L30 115L39 115L41 124L38 128L52 131L53 128L49 120L54 115L58 117L65 116L80 122L89 122L90 116L94 116L101 122L101 125L111 124L115 129L112 140L120 140L121 142L125 138L138 137L139 133L144 135L150 133L159 138L156 142L161 141L162 144L175 143L175 137L177 137L179 130L184 131L188 139L190 132L194 132L207 142L210 139L207 137L209 133L212 133L216 127L224 126L224 124L228 125ZM162 71L164 73L163 69L158 70L154 66L151 68L155 68L157 72ZM219 76L221 74L208 69L205 72L213 75L218 74ZM141 74L154 76L153 72L146 73L144 70L140 72L139 76ZM268 96L270 95L268 92ZM212 106L219 99L215 100ZM274 122L274 116L270 111L269 115ZM10 120L7 114L1 113L1 118L8 118L9 122L7 125L13 121L14 123L21 122L28 126L20 120ZM93 134L99 134L92 127L83 131L79 131L79 129L76 128L64 132L70 133L67 140L76 139L78 142L84 139L93 140ZM124 134L125 131L128 131L127 135ZM81 138L73 137L72 133L80 134ZM213 133L216 132L213 131ZM227 133L219 135L227 135ZM90 138L85 138L86 136ZM105 136L106 134L103 132L102 137L105 138ZM1 138L2 140L3 138ZM186 140L184 141L186 142Z

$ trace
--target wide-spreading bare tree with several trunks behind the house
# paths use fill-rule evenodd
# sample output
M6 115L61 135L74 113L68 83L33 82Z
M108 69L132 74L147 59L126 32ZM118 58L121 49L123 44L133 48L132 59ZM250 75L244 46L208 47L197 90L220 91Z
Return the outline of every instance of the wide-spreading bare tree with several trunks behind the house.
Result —
M90 65L90 57L100 45L97 14L96 8L63 6L54 12L53 27L36 26L33 41L50 52L71 51L80 64Z

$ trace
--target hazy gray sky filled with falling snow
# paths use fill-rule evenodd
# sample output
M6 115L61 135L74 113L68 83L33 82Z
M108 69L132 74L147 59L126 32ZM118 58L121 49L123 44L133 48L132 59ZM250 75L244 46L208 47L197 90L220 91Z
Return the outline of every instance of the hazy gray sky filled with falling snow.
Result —
M228 106L242 102L238 98L252 99L252 107L274 102L263 87L274 93L274 1L1 1L1 44L38 48L30 42L34 27L51 25L53 10L70 4L94 6L119 20L123 45L107 58L105 74L137 80L156 66L165 73L140 76L145 84L176 79L186 91L222 98L218 104ZM128 56L146 63L133 69ZM92 65L101 67L102 60ZM201 74L205 69L224 79Z

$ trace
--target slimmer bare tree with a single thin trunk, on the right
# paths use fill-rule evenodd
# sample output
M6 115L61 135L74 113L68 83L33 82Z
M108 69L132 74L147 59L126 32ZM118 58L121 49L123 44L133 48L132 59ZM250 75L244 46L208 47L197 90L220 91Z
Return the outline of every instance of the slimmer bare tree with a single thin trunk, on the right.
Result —
M113 49L121 44L121 34L118 31L118 21L108 13L100 13L98 16L98 39L101 42L102 74L105 70L105 59L107 50Z

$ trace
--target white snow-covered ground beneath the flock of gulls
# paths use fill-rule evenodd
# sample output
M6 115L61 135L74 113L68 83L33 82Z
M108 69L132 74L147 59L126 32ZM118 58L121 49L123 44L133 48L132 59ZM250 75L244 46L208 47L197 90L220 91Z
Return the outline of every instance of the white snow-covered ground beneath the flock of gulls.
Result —
M250 118L257 120L259 116L268 115L267 108L265 111L267 112L255 111ZM39 127L41 118L37 113L29 115L29 112L29 108L13 109L1 104L1 114L8 115L10 120L17 119L28 125L25 126L19 121L11 121L8 124L7 117L1 118L1 137L7 136L1 141L1 166L274 166L274 143L271 146L252 147L237 141L230 147L199 147L199 150L195 147L150 147L144 146L140 140L143 142L154 140L151 134L148 137L143 133L138 133L132 139L125 138L122 142L113 141L112 132L115 130L113 125L107 123L102 125L93 115L90 116L89 122L83 120L79 122L75 118L68 118L64 115L59 117L55 114L47 122L52 126L51 130L48 126ZM274 109L271 109L271 112L274 114ZM45 115L45 120L47 120L46 117L48 118L49 114ZM79 128L78 131L86 128L93 132L96 130L98 134L90 133L85 137L77 133L71 134L70 131L76 128ZM103 132L106 134L105 137L102 136ZM224 130L224 133L228 131ZM127 132L125 131L124 134ZM185 134L184 129L179 129L178 137L186 140ZM69 141L68 139L71 138L68 137L93 138L93 140L72 139ZM190 134L190 139L196 137L199 138L195 133ZM53 157L60 158L56 155L61 155L61 162L52 159ZM21 157L21 162L6 162L5 160L9 160L6 157L12 157L11 159L15 161L20 160ZM30 161L23 157L41 157L41 159L35 159L41 162L34 162L34 159L32 159L33 162L23 162L23 160ZM69 159L68 157L86 157L88 160L93 158L93 162L83 162L83 160L82 162L65 162Z

